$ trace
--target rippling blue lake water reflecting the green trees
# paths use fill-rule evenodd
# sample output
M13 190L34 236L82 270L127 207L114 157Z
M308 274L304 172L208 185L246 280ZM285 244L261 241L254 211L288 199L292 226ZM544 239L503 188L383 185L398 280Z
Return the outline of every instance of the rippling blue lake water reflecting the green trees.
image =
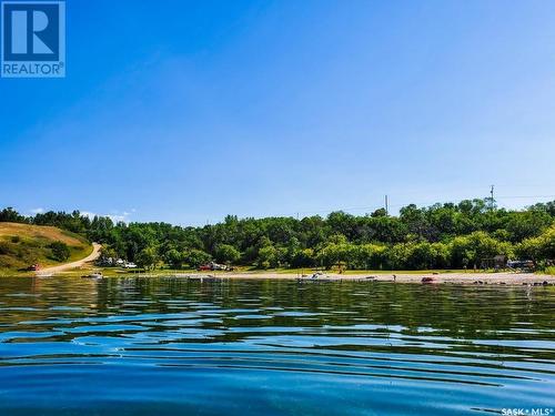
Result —
M555 287L0 280L0 415L507 408L555 408Z

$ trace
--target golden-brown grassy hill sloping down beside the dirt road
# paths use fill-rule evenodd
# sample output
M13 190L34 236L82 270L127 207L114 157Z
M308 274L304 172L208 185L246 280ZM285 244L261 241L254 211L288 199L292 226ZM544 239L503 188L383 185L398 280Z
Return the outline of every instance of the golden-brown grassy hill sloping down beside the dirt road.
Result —
M70 257L67 261L54 260L51 247L54 242L69 246ZM0 275L37 263L43 267L77 261L91 252L92 245L85 239L54 226L0 223Z

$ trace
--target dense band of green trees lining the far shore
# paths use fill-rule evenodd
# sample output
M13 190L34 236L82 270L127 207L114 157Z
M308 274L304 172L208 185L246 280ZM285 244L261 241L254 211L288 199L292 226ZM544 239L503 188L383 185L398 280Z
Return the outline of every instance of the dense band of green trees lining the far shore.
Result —
M465 200L427 207L414 204L390 216L333 212L326 217L238 219L205 226L117 223L72 213L24 216L0 211L0 222L53 225L104 245L103 255L153 268L196 267L210 261L273 267L421 270L481 267L496 255L555 258L555 201L522 211L497 209L491 200Z

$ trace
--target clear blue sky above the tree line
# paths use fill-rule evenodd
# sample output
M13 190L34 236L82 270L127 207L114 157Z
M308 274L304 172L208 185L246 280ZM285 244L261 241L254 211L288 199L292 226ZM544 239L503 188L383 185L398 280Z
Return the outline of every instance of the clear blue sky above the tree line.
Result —
M67 78L0 80L0 206L203 224L555 199L555 2L67 10Z

